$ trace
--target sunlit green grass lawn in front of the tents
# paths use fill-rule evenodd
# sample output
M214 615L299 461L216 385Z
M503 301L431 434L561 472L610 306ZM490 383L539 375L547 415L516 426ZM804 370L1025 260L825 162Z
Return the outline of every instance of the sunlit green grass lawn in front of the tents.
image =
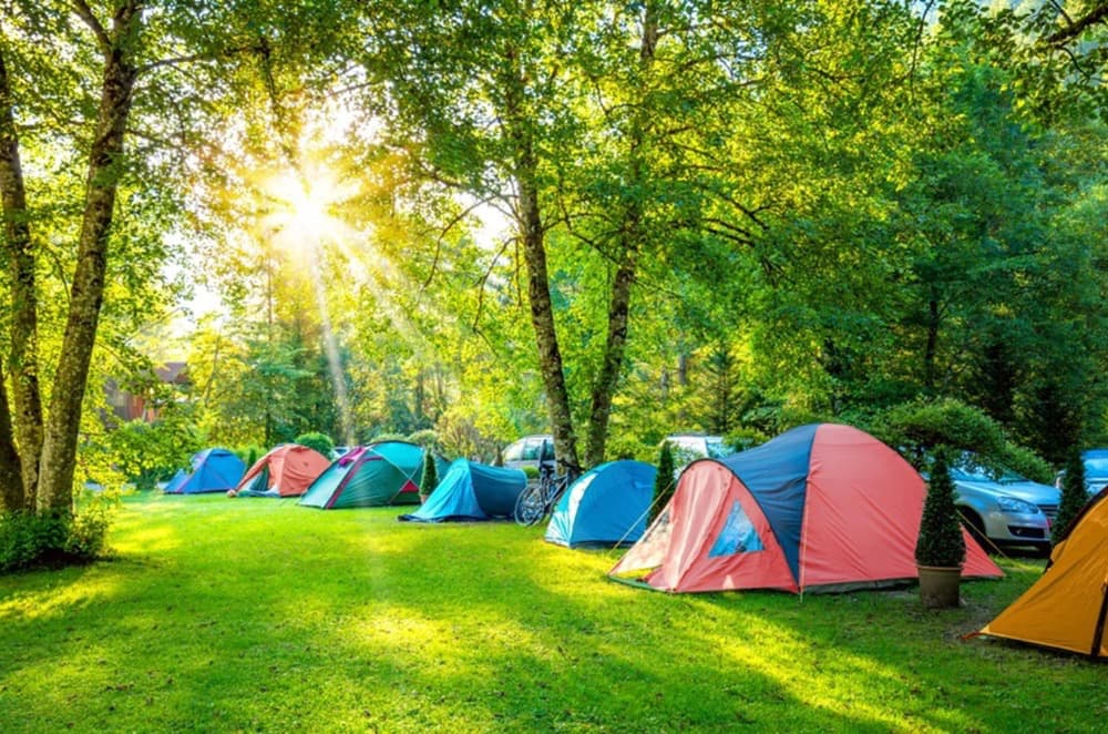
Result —
M0 578L0 731L1104 731L1108 669L962 642L1040 573L668 595L507 523L125 502L115 559Z

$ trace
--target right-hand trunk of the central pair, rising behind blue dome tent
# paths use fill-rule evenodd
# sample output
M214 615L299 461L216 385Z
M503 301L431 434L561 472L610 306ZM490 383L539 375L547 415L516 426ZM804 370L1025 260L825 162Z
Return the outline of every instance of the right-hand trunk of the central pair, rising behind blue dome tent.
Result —
M658 21L653 3L643 10L643 37L638 52L639 72L645 77L654 64L654 52L658 45ZM640 96L646 91L646 81L636 90ZM637 191L647 175L643 161L643 145L646 140L646 101L640 99L635 113L628 143L630 157L629 184ZM619 385L624 355L627 350L627 326L630 314L632 286L635 283L636 258L642 248L643 201L636 195L624 213L619 242L619 266L612 282L612 299L608 304L608 334L604 344L601 370L593 381L592 407L588 414L588 436L585 445L585 462L594 467L604 461L604 448L608 438L608 421L612 418L612 400Z

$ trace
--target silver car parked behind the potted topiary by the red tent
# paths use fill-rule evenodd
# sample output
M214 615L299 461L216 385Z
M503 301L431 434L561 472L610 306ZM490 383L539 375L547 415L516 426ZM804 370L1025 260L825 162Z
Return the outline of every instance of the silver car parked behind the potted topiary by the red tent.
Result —
M1050 523L1061 492L1014 471L996 472L966 457L951 467L957 507L985 550L1024 547L1050 552Z

